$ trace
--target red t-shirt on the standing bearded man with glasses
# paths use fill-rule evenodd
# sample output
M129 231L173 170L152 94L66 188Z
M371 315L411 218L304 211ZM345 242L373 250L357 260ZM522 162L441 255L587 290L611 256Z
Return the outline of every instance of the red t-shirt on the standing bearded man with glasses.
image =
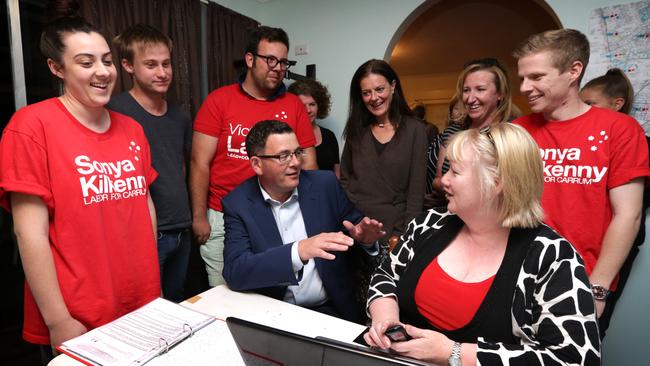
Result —
M255 175L246 155L246 135L264 120L287 123L302 148L316 145L305 106L290 93L272 100L257 100L239 84L219 88L206 98L194 120L194 131L217 138L217 151L210 166L208 207L221 211L221 200Z

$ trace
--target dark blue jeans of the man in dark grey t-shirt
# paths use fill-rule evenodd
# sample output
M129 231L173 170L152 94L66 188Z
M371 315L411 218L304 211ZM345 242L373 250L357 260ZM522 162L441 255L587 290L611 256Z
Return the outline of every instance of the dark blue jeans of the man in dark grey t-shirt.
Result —
M185 300L185 276L190 259L189 229L158 232L158 263L163 297L174 302Z

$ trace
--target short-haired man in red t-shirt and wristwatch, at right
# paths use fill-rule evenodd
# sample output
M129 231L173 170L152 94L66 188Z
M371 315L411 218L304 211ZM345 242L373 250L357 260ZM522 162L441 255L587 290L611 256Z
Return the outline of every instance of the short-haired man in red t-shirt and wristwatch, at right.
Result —
M583 257L600 318L641 221L644 180L650 176L645 136L631 117L580 99L589 61L584 34L535 34L513 55L521 93L533 111L514 122L540 147L546 222Z

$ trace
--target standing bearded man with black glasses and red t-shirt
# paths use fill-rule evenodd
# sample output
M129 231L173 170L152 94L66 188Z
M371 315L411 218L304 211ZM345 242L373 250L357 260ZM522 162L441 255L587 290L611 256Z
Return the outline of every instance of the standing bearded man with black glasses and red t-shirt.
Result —
M295 131L305 149L302 167L316 169L316 139L305 107L282 83L291 61L289 37L280 28L261 26L244 55L248 70L239 83L219 88L194 121L190 194L192 229L201 244L210 286L224 284L224 227L221 199L254 175L246 154L248 131L259 121L279 120Z

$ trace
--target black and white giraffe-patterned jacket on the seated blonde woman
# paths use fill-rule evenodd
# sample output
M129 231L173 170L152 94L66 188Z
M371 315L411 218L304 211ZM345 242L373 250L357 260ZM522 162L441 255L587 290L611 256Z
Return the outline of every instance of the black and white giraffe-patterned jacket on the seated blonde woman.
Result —
M415 280L408 281L417 282L425 267L415 263L418 260L422 262L422 256L437 256L462 225L456 215L436 209L413 219L400 244L373 275L368 305L381 297L395 297L400 306L401 320L408 323L403 308L416 309L412 292L415 285L406 286L408 290L405 292L400 279L407 282L405 278L409 276ZM433 243L435 241L438 243ZM428 250L429 253L425 253L435 245L440 247L437 252ZM600 338L593 297L582 258L573 246L548 226L540 225L535 229L512 229L508 247L519 248L521 260L516 262L512 259L514 256L506 253L501 268L513 264L507 262L516 262L512 274L499 269L475 318L481 312L487 319L484 323L492 322L487 328L483 324L483 329L500 326L509 333L511 328L512 335L508 341L495 340L495 337L484 334L469 340L456 340L478 345L477 364L480 365L599 365ZM414 259L416 253L418 257ZM433 258L425 259L427 263L431 260ZM412 267L416 267L415 277ZM407 274L406 270L410 272ZM501 272L506 274L500 278ZM506 294L511 296L491 294L508 286L510 289L506 289ZM498 287L501 289L495 290ZM505 304L503 313L506 317L493 316L492 313L498 313L495 309L498 306L490 308L487 301ZM499 324L495 324L495 319ZM423 326L423 323L413 325ZM424 324L427 325L435 329ZM442 332L454 339L453 331L452 335Z

